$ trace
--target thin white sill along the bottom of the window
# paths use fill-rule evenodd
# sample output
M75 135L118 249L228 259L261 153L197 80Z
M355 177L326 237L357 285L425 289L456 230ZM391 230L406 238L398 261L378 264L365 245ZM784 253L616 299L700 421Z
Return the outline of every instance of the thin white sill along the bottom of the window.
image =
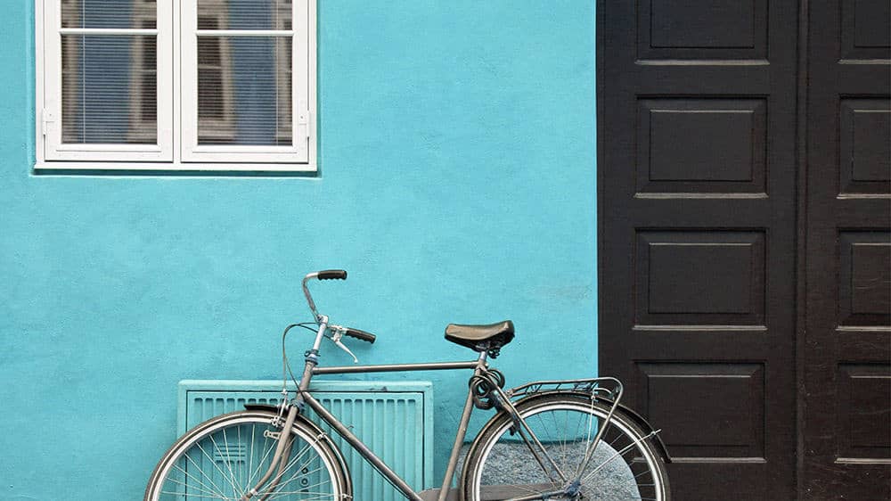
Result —
M276 176L315 177L307 163L88 162L38 161L35 175L45 176Z

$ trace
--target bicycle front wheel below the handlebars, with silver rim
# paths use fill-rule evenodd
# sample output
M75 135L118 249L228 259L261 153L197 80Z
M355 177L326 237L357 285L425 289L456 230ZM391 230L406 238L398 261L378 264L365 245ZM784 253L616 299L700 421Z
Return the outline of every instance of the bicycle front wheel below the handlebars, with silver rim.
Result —
M264 411L241 411L199 424L155 467L144 501L241 499L272 462L278 439L269 432L282 431L270 424L273 417ZM298 421L277 485L253 498L341 501L351 495L342 458L330 439L314 425Z

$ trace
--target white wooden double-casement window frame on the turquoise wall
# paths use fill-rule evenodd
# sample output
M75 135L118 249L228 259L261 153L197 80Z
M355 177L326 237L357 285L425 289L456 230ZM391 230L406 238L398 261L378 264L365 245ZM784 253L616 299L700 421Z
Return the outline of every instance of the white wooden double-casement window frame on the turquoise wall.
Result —
M278 1L285 3L285 0ZM61 30L61 2L35 0L35 169L316 171L317 0L291 0L291 30L276 27L273 31L257 33L259 36L293 36L290 127L293 146L198 144L197 35L200 32L197 31L196 0L158 0L156 29L112 30L118 34L157 34L158 144L62 143L61 115L64 111L61 109L60 33L93 34L94 31L109 30ZM233 30L231 34L254 33ZM280 57L279 52L276 48L276 57ZM135 58L136 62L138 60ZM306 78L303 78L304 75ZM131 106L134 105L131 103ZM138 113L135 116L138 117Z

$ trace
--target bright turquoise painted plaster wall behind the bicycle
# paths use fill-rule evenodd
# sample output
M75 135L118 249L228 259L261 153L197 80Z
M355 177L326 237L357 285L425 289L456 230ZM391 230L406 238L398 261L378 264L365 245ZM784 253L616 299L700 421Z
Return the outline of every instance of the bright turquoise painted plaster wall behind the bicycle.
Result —
M278 377L319 268L350 272L315 291L379 334L364 363L466 359L447 323L511 318L509 383L595 373L593 2L319 4L319 176L49 176L33 0L4 0L0 499L141 498L176 382ZM436 383L441 474L466 374L404 379Z

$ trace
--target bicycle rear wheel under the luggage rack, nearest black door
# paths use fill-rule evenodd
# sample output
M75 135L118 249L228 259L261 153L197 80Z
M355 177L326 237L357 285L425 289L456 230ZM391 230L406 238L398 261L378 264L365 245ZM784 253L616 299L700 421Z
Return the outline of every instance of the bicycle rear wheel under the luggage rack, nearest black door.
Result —
M670 500L662 457L648 433L621 411L591 449L609 415L607 404L584 395L554 393L527 398L516 407L541 448L524 439L529 433L509 415L495 415L468 452L463 475L468 501Z

